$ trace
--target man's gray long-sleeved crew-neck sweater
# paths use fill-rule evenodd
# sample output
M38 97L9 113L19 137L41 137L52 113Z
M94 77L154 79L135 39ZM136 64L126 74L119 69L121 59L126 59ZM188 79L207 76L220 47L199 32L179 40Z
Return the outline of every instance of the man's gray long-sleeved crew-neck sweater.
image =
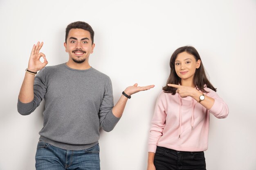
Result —
M98 143L99 129L111 131L119 118L112 113L110 78L94 68L75 70L66 63L43 68L35 77L34 100L18 100L18 112L29 115L45 99L40 140L66 150Z

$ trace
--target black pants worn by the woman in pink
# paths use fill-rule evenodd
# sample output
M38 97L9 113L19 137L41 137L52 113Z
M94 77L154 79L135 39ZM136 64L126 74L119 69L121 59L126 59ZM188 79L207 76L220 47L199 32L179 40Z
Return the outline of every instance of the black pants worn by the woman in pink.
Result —
M204 152L184 152L157 146L156 170L206 170Z

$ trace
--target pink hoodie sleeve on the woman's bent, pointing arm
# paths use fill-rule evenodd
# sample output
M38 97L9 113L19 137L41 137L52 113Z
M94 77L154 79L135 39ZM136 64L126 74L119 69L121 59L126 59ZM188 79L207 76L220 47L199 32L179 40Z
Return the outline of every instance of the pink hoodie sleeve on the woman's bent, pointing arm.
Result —
M229 114L229 108L227 104L218 96L216 92L211 90L206 94L207 96L214 99L214 104L209 110L216 118L227 118Z

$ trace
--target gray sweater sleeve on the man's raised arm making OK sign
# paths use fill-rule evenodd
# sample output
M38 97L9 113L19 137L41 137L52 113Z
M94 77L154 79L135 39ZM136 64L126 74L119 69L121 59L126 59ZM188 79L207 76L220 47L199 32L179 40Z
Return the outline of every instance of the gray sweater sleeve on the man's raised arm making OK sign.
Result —
M18 99L17 109L21 115L29 115L36 107L40 105L40 102L45 97L47 90L47 84L45 81L45 68L43 68L35 77L34 81L34 99L29 103L22 103Z

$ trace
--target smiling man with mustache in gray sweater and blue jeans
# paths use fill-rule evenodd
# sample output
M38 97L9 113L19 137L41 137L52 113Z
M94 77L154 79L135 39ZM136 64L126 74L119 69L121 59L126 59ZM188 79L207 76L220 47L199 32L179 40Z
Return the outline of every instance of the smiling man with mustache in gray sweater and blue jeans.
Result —
M138 87L137 83L129 86L114 106L110 78L89 64L95 46L93 38L89 24L69 24L64 43L69 60L48 67L45 54L40 52L43 42L33 46L20 89L18 112L28 115L45 99L37 170L99 170L99 129L111 131L128 98L154 87Z

